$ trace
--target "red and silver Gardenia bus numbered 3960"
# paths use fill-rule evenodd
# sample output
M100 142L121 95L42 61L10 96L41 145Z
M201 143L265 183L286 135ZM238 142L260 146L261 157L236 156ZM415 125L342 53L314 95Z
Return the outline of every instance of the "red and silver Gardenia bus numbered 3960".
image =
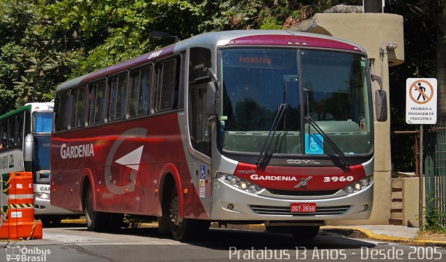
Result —
M56 88L52 204L93 231L134 214L176 240L210 222L312 238L371 213L371 94L366 52L344 40L194 36Z

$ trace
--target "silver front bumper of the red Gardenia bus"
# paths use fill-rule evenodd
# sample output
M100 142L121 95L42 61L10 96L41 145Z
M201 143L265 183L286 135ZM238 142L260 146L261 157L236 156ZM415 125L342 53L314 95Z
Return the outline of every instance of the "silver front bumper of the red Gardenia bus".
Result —
M353 194L339 190L330 196L279 196L266 190L262 190L259 194L250 194L218 178L213 178L210 219L238 221L369 219L373 196L374 183ZM316 203L316 213L291 213L291 203L299 202ZM233 208L229 209L228 205Z

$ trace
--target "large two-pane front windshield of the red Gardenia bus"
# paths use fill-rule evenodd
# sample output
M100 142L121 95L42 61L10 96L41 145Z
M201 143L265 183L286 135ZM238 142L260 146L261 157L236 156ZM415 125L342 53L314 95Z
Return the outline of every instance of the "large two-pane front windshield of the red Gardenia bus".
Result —
M284 114L269 153L335 154L316 122L346 155L371 153L371 91L365 56L306 49L222 49L220 145L231 153L261 152L280 105Z

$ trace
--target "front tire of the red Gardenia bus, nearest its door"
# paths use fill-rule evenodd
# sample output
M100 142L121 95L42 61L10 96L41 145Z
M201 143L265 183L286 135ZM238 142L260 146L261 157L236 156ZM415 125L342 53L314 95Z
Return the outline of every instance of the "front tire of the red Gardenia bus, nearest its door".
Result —
M178 192L174 187L169 199L169 219L171 233L175 240L193 240L209 229L210 221L208 220L184 218L180 221L179 210Z

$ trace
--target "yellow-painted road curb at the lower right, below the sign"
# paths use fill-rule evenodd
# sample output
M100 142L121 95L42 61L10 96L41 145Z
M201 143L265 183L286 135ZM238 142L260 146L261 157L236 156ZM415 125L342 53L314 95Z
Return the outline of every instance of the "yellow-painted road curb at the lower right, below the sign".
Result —
M353 226L322 226L323 231L338 233L339 235L353 238L369 238L372 240L398 242L408 245L434 245L437 247L446 247L446 241L437 240L417 240L411 238L401 238L394 236L378 235L367 229L361 229Z

